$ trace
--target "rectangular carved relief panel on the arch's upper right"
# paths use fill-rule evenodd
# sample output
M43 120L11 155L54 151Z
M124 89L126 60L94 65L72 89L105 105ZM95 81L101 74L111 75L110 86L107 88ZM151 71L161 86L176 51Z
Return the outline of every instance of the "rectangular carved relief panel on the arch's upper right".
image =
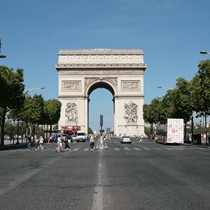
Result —
M121 81L122 92L141 91L140 80L123 80Z

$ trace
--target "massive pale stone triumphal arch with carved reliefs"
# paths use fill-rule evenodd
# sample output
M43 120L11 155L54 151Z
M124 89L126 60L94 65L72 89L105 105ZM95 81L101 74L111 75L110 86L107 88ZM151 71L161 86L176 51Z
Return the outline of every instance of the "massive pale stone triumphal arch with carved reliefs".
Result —
M59 128L80 126L88 131L89 96L97 88L113 95L114 133L143 134L143 50L59 50ZM96 116L99 117L99 116Z

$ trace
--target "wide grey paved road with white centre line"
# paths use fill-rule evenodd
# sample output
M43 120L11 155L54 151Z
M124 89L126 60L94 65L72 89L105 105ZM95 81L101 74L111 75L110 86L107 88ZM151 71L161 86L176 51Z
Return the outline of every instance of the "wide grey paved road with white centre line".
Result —
M0 151L0 210L210 209L210 149L154 142Z

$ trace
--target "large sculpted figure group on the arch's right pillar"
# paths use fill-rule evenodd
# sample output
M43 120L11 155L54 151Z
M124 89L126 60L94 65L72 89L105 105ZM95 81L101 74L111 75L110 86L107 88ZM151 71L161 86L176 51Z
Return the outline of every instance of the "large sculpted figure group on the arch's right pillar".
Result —
M138 120L138 105L130 101L128 104L124 104L124 109L124 119L126 123L136 123Z

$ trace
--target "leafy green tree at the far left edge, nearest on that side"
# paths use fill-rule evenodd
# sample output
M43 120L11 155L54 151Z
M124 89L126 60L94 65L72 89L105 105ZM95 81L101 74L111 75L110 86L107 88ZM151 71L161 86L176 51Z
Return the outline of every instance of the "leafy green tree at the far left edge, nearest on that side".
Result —
M4 124L6 113L20 109L24 102L23 69L0 66L1 145L4 145Z

